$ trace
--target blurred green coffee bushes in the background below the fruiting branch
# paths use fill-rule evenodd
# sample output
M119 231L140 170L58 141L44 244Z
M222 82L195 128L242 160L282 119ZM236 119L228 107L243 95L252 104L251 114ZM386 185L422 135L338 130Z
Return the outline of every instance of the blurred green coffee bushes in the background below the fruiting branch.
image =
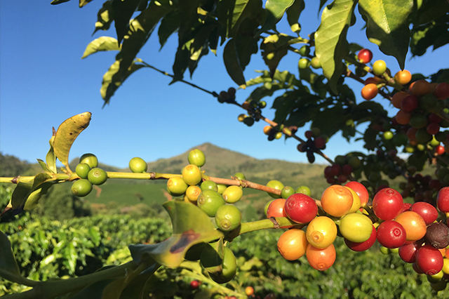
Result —
M126 215L97 215L63 222L27 215L2 224L0 230L10 234L22 274L43 280L88 274L100 267L125 263L130 260L128 244L156 243L171 233L163 220L133 220ZM277 298L449 298L444 291L431 291L427 279L395 253L382 255L377 248L354 253L340 239L333 267L317 272L305 257L295 262L281 258L276 251L280 235L281 231L251 232L229 244L239 265L236 277L229 282L232 288L242 291L253 286L255 295L262 298L267 293ZM207 293L207 282L199 290L189 288L193 279L207 279L197 270L192 262L178 269L161 268L154 281L163 286L157 292L158 298L191 298L201 291ZM179 276L181 271L184 277ZM22 289L8 281L0 282L1 295Z

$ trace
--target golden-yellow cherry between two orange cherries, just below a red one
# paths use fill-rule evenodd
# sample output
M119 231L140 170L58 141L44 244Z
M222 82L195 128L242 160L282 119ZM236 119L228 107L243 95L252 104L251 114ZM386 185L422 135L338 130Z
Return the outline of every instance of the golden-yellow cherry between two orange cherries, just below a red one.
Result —
M326 248L333 244L337 237L337 225L326 216L319 216L307 225L307 241L315 248Z

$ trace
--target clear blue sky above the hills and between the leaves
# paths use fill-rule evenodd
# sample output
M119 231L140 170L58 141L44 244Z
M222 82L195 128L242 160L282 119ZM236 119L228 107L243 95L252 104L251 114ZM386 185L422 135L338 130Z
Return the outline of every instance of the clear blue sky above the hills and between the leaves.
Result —
M92 36L97 12L104 1L92 1L83 8L78 8L75 0L58 6L50 2L1 1L0 151L3 154L31 162L45 159L52 126L57 128L72 115L89 111L93 114L91 124L74 143L69 158L92 152L102 163L126 167L136 156L154 161L211 142L258 159L307 161L304 154L297 152L295 140L268 142L262 133L265 125L262 121L252 127L239 123L237 117L244 112L239 107L219 104L207 93L180 82L168 86L170 78L152 69L135 72L119 88L110 105L102 108L102 76L114 62L116 52L98 53L85 60L81 60L81 55L93 39L115 34L112 29ZM317 2L306 1L306 12L300 18L302 36L319 25ZM372 49L374 60L385 60L391 72L397 72L397 62L377 51L360 28L361 25L350 29L349 41ZM171 73L176 46L177 36L173 35L159 52L159 39L154 33L138 57ZM299 57L288 56L279 69L297 74ZM246 79L257 76L254 69L264 69L261 62L259 52L246 68ZM406 61L406 68L412 73L429 75L441 67L448 67L447 47ZM185 77L189 80L189 74ZM222 48L216 57L210 54L201 59L192 82L217 93L236 87L222 63ZM357 95L362 87L354 84ZM237 100L243 102L250 91L250 88L237 91ZM273 100L267 99L263 111L271 119L274 110L268 107ZM387 104L381 98L375 100ZM300 131L300 137L304 130ZM349 145L338 133L331 138L325 153L333 158L352 150L361 150L361 144ZM316 162L326 163L323 159Z

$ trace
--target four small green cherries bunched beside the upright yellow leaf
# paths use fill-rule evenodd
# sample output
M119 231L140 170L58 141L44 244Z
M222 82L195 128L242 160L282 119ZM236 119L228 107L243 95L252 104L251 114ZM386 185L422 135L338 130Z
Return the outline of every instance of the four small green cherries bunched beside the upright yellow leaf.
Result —
M107 173L98 168L98 159L94 154L83 154L75 168L79 180L72 184L72 193L85 197L93 190L93 185L102 185L107 181Z

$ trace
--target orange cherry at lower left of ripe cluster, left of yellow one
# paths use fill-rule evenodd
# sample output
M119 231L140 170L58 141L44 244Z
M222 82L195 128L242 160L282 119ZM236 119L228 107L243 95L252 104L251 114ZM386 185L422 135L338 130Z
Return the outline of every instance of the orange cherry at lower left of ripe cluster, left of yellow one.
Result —
M307 249L307 237L303 230L292 228L287 230L278 240L278 251L286 260L301 258Z

